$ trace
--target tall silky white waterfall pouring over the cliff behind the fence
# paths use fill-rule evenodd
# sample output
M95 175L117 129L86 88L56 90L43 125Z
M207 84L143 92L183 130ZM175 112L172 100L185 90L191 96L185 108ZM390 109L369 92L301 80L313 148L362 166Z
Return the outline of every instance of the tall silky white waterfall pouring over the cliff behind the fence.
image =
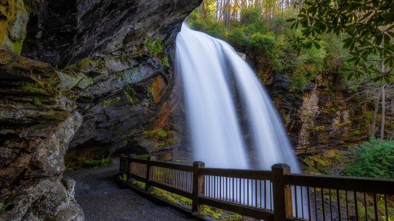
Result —
M271 170L286 163L300 173L271 97L229 44L183 24L175 69L183 84L194 159L210 168ZM259 159L253 165L247 157L251 150Z

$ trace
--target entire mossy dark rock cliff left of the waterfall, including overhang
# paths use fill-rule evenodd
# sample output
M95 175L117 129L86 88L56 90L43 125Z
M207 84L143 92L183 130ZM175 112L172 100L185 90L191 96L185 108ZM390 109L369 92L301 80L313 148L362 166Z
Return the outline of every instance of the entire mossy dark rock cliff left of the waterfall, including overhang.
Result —
M78 161L172 143L174 41L201 1L0 5L0 219L84 219L66 152ZM168 136L146 135L160 130Z

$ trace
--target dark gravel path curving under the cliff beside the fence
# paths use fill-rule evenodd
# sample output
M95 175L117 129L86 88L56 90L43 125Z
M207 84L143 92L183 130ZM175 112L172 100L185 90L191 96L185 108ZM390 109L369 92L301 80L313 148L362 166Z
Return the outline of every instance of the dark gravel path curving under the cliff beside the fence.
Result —
M111 167L64 173L75 184L75 199L86 220L198 220L167 206L151 202L130 189L114 183L119 173L119 157Z

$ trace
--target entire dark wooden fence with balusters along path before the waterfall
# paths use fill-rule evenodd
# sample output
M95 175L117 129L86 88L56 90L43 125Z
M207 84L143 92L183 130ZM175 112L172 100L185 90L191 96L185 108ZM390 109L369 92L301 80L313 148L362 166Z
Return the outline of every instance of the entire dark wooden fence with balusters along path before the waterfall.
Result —
M120 173L204 205L264 220L394 219L394 179L291 174L283 163L271 171L205 168L122 155Z

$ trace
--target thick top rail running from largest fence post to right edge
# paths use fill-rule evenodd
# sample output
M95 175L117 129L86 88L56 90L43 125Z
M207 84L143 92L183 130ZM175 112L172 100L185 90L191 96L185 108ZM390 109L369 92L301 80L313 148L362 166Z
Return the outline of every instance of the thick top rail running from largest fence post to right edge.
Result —
M394 195L394 179L286 174L284 182L304 187Z

